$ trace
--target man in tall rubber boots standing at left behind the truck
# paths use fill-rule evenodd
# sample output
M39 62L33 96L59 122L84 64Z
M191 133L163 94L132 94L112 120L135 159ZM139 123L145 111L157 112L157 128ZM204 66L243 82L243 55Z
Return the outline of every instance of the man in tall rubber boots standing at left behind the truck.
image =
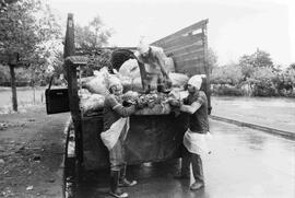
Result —
M105 98L104 105L104 131L108 131L116 121L121 117L129 117L135 112L135 105L129 107L122 106L122 85L118 79L113 78L109 83L110 94ZM123 141L128 132L127 125L122 127L119 138L115 145L109 149L109 162L110 162L110 195L117 198L128 197L127 193L123 193L119 186L128 187L134 186L137 180L129 182L126 178L126 160Z

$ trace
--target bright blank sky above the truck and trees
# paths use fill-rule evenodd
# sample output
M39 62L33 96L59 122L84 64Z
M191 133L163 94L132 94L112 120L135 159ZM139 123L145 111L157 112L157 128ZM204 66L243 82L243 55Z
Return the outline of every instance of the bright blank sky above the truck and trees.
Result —
M66 27L67 14L86 25L96 15L111 28L110 45L153 43L209 19L209 47L220 65L238 61L257 48L283 67L295 62L293 0L47 0Z

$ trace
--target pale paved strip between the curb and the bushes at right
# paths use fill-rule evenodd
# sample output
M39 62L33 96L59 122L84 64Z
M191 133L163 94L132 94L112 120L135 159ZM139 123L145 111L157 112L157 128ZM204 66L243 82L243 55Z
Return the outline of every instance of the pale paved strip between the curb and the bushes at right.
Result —
M295 133L295 100L213 96L212 115Z

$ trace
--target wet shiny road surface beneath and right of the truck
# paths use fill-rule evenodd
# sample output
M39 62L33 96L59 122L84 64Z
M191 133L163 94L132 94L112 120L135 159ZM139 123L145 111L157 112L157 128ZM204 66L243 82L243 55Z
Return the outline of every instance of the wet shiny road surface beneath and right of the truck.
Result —
M203 156L205 188L173 175L179 162L130 166L139 184L126 188L134 198L294 198L295 141L235 125L212 121L212 154ZM109 197L107 171L88 172L69 197Z

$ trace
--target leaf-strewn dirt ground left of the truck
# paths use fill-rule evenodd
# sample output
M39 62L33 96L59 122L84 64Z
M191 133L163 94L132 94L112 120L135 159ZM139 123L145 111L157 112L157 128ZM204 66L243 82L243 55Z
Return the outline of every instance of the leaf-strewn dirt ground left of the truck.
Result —
M61 197L67 119L45 105L0 115L0 197Z

